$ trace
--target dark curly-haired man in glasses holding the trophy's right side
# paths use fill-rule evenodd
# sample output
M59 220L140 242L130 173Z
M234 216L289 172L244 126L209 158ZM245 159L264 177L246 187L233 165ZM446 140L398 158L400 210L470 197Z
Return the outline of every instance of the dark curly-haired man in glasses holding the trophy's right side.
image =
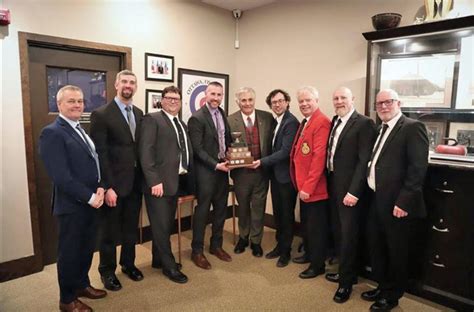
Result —
M295 223L297 192L290 177L290 152L300 123L289 111L290 101L290 95L281 89L268 94L266 103L275 114L277 122L272 138L272 153L255 160L253 166L258 168L261 165L270 171L277 245L265 258L278 258L277 267L285 267L290 261Z

